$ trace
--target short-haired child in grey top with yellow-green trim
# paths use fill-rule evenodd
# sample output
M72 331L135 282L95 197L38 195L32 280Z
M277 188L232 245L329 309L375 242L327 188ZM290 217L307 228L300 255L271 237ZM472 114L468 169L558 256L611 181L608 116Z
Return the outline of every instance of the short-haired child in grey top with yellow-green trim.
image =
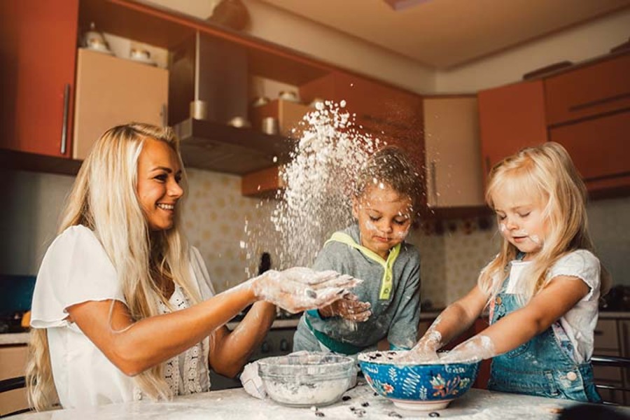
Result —
M357 220L326 241L314 269L363 279L352 295L304 313L293 350L356 354L386 337L409 349L420 316L420 257L404 242L417 210L419 179L397 148L383 148L358 175L352 214Z

